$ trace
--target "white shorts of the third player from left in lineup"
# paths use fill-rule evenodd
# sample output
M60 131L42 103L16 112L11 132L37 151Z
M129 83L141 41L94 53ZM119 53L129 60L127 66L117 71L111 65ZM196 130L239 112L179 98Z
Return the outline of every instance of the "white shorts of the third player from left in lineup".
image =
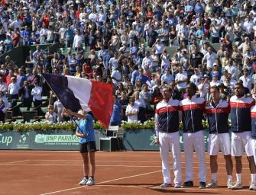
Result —
M209 134L208 154L218 155L222 151L223 155L231 154L231 141L228 133Z

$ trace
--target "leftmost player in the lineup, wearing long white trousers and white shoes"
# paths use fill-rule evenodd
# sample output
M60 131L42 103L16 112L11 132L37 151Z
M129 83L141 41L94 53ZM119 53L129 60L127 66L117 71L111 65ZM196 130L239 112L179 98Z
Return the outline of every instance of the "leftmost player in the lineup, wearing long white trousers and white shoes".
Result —
M160 145L160 156L162 158L162 173L164 184L160 187L171 187L169 151L173 156L174 187L179 188L181 184L181 161L180 161L180 134L179 134L179 103L171 98L172 90L164 87L162 90L163 101L156 107L156 135L155 143Z

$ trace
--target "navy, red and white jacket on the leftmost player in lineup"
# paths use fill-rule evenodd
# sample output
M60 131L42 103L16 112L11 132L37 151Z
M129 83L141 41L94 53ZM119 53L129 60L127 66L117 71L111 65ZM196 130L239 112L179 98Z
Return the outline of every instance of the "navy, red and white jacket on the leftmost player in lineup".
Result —
M179 129L179 104L180 101L170 99L168 102L160 101L155 110L156 126L155 130L158 136L159 132L174 133Z

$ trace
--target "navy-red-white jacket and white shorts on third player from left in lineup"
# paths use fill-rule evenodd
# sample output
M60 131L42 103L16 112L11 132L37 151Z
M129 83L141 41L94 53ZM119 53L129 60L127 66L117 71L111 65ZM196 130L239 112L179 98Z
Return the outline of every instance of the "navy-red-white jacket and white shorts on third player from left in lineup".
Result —
M206 115L209 123L208 154L231 154L231 142L228 133L228 114L230 107L227 101L219 101L219 104L211 102L206 105Z

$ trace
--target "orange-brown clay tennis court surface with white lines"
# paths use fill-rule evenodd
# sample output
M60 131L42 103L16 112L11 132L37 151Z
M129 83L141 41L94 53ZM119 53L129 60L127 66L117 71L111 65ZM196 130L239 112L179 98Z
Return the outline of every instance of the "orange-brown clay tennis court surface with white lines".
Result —
M248 161L243 157L241 190L225 187L225 163L219 156L219 187L198 188L196 158L193 188L161 189L159 152L97 152L96 185L79 186L83 177L78 152L0 151L0 194L256 194L248 190L251 181ZM185 173L184 154L183 178ZM206 155L207 176L210 181L209 156ZM173 173L172 173L173 179ZM233 171L235 181L235 170Z

